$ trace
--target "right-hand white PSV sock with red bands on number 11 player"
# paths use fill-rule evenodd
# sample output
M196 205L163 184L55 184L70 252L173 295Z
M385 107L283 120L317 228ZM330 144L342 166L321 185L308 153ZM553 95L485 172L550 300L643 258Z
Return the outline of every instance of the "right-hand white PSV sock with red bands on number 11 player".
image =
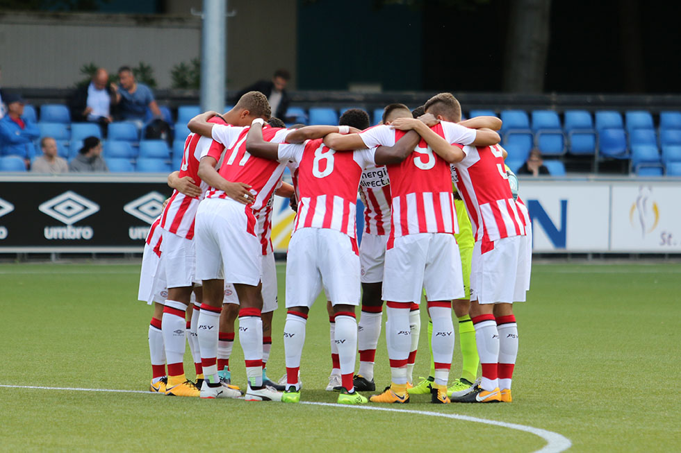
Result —
M251 387L263 385L263 318L260 309L239 310L239 343L246 363L246 379Z

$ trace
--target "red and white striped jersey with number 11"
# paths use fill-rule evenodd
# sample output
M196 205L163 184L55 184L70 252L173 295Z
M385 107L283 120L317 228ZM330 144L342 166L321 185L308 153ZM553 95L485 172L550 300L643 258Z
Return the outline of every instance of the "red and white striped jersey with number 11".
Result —
M279 185L288 159L279 162L255 157L247 153L246 137L249 129L249 127L243 128L235 138L234 131L229 130L229 128L213 126L213 139L223 144L231 144L231 146L225 145L224 160L218 171L220 176L231 182L244 182L251 186L250 191L254 194L256 200L252 205L245 206L245 212L249 218L247 232L257 236L259 232L256 216L260 215L260 210L266 208L268 200L274 194L274 189ZM288 129L265 126L263 128L263 139L267 142L281 143L286 140L286 135L289 132ZM220 160L220 155L213 154L213 151L208 155L215 157L215 160ZM213 187L206 192L206 198L231 200L224 191Z

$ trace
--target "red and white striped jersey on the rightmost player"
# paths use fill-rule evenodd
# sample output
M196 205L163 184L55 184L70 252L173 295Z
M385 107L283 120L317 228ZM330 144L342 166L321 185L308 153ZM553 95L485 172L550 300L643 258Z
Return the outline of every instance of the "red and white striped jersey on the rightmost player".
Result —
M502 149L497 145L462 148L466 157L454 164L454 180L466 203L475 241L524 236L525 225L511 195Z

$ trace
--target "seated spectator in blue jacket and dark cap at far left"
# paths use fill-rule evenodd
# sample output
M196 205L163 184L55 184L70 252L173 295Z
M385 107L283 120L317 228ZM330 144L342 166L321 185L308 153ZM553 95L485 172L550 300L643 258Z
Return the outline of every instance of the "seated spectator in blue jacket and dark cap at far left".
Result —
M24 117L24 98L19 93L4 93L7 114L0 119L0 155L18 155L26 168L35 156L33 140L40 136L38 126Z

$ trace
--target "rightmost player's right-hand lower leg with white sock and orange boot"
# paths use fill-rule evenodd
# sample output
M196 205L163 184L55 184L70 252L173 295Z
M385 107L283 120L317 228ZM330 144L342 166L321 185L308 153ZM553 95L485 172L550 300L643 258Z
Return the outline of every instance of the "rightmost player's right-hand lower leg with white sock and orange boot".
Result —
M494 317L499 332L499 388L502 402L511 402L511 378L518 356L518 325L513 304L494 305Z

